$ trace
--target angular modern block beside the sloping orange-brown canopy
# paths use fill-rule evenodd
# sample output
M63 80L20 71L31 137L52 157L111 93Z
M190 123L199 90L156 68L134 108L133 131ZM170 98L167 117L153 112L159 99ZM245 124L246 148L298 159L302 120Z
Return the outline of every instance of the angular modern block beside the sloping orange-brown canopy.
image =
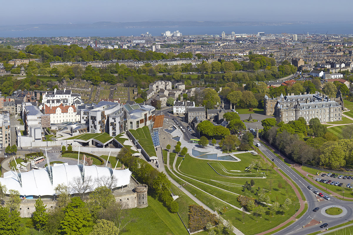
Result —
M126 104L124 107L124 131L150 125L156 117L156 108L150 105Z

